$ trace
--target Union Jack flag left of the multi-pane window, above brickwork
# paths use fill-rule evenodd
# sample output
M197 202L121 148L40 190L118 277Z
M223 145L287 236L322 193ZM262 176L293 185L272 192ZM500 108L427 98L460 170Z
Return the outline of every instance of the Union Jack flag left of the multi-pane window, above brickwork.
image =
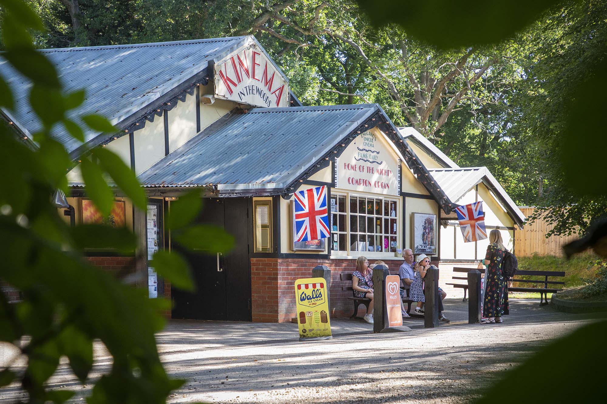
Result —
M327 187L316 187L295 193L295 241L320 240L330 237L327 211Z

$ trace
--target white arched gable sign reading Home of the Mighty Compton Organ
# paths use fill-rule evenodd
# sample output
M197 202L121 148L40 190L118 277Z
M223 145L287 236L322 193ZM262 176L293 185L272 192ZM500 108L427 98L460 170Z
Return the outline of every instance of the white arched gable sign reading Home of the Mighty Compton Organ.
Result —
M337 159L337 188L400 195L401 161L383 138L361 133Z

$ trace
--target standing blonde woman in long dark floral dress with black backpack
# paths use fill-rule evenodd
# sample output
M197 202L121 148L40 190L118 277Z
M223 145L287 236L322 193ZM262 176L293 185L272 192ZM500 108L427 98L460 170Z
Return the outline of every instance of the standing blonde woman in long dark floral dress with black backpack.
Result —
M499 230L492 230L489 234L489 246L484 263L487 267L485 277L485 296L483 300L483 317L488 317L481 324L503 323L501 316L508 313L507 279L501 272L501 263L504 260L504 243Z

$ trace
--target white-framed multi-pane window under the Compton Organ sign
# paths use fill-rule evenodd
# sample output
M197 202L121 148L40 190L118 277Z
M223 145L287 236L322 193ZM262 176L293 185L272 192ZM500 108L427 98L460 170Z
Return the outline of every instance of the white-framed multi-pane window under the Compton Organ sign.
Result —
M396 252L397 226L396 200L331 195L331 249L334 251L347 251L348 243L350 251Z

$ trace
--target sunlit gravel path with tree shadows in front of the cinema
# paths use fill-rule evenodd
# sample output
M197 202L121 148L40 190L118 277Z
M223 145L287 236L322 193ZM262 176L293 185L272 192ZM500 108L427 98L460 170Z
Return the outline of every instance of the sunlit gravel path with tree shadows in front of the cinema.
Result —
M538 348L592 321L590 315L556 312L537 300L511 300L501 325L467 325L467 305L446 300L450 325L410 332L370 334L372 326L331 319L333 340L298 342L294 324L172 320L158 335L165 368L188 382L169 403L463 403L478 396L500 371ZM94 375L110 365L101 348ZM78 390L65 365L52 384ZM21 398L17 386L0 390L0 403Z

